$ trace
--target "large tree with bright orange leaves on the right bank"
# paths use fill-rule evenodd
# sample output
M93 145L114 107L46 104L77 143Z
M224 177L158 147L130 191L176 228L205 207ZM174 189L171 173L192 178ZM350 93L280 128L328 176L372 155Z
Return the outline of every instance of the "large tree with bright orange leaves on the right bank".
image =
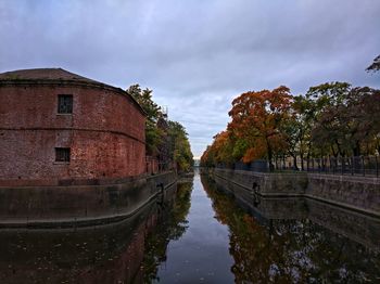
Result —
M292 96L284 86L273 91L245 92L232 101L228 131L246 141L244 163L266 157L269 169L274 170L275 152L287 146L280 128L292 117L291 106Z

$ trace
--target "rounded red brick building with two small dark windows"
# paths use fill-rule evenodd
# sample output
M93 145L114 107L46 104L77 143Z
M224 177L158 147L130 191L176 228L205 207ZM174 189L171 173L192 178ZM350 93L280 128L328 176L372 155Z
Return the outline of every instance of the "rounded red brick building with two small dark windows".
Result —
M0 74L0 185L144 171L144 114L122 89L61 68Z

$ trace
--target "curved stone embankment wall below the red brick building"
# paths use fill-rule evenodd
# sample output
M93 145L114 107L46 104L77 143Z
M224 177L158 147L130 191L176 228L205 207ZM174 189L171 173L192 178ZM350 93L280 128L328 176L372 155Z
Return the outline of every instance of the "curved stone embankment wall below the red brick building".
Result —
M122 183L0 188L0 229L79 228L119 222L165 198L174 171Z

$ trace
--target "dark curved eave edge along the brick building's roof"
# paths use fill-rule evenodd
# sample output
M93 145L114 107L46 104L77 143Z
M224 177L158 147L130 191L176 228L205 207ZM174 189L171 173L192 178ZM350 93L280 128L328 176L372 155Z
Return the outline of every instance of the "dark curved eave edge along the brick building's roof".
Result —
M128 96L132 101L132 103L138 107L138 109L141 112L141 114L147 116L145 111L135 100L134 96L131 96L122 88L117 88L103 82L98 82L98 81L91 82L91 81L80 81L80 80L69 80L69 79L1 79L0 80L0 87L3 85L65 85L65 83L71 86L85 86L85 87L91 87L91 88L98 88L98 89L106 89L114 92L118 92L125 96Z

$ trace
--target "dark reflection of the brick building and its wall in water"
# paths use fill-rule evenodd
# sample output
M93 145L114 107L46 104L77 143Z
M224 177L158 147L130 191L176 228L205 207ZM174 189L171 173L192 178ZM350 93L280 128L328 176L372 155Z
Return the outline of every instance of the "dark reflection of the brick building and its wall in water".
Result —
M79 230L0 232L1 283L140 282L145 231L156 222L149 205L123 222Z

